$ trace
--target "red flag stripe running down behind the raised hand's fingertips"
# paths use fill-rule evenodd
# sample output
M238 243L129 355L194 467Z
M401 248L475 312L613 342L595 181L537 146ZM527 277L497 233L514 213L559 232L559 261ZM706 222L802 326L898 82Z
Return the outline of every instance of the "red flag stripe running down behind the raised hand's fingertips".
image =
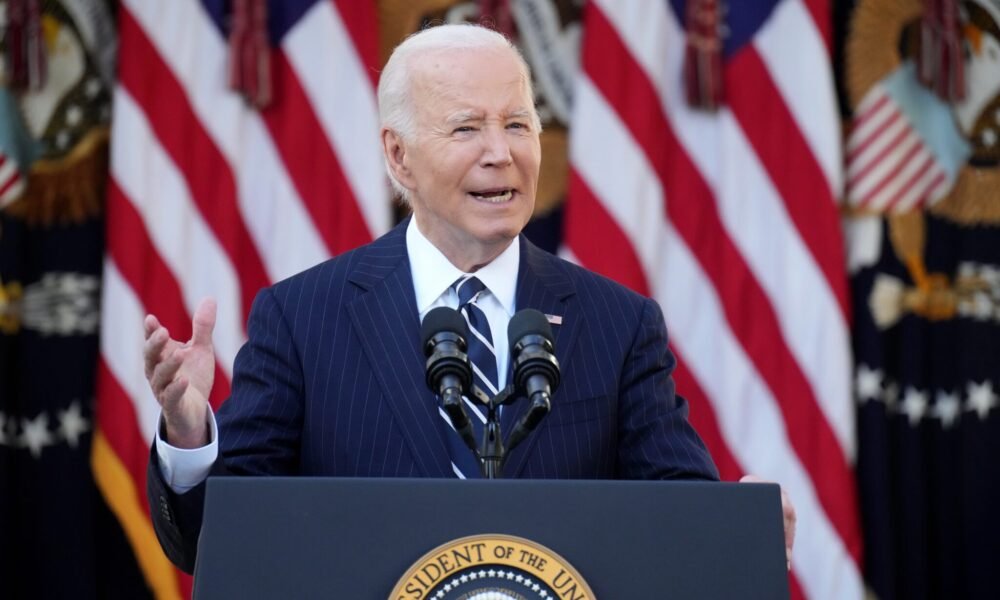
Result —
M108 179L107 252L115 261L118 271L129 286L142 299L144 309L156 315L176 340L191 337L191 316L184 306L173 274L163 262L156 248L149 241L146 225L135 207L128 201L113 177ZM213 408L218 408L229 396L229 380L215 363L215 385L209 396ZM113 430L105 430L113 432ZM108 435L114 440L114 435Z

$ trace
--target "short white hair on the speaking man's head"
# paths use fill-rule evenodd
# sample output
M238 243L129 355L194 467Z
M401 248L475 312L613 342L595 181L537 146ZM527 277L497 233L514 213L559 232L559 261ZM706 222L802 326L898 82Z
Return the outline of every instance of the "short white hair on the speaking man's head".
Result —
M389 60L382 69L378 81L378 113L380 125L396 132L404 142L413 140L416 136L416 114L411 94L411 74L414 57L427 52L440 50L476 50L500 49L509 50L517 57L521 78L528 98L532 102L531 120L535 131L541 131L541 119L534 107L534 91L531 85L531 72L524 56L513 43L503 34L481 25L472 23L447 24L429 27L418 31L402 41L392 51ZM393 189L409 202L407 190L392 174L389 159L385 157L385 170Z

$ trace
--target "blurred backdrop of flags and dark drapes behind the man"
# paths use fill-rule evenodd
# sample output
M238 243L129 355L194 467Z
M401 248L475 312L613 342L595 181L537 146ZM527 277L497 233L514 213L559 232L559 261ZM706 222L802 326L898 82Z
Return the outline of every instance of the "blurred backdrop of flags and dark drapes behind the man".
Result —
M465 21L533 69L526 234L660 302L793 597L996 597L997 0L3 0L0 597L190 595L142 316L218 299L218 405L257 290L405 216L379 70Z

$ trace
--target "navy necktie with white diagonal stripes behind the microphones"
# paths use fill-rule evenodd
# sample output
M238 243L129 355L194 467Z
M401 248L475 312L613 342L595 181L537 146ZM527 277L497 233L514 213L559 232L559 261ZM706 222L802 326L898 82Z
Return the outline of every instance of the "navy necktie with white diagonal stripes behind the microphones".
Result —
M492 398L499 390L497 354L493 347L493 335L490 332L490 323L486 320L486 313L476 304L483 294L489 293L489 290L479 278L472 275L463 275L451 287L458 294L458 310L469 324L469 337L466 343L469 360L472 362L473 382ZM486 428L486 407L465 398L465 411L469 413L476 441L479 442L483 439L483 431ZM451 423L447 417L445 420ZM459 435L452 430L448 439L455 474L470 479L481 477L475 457Z

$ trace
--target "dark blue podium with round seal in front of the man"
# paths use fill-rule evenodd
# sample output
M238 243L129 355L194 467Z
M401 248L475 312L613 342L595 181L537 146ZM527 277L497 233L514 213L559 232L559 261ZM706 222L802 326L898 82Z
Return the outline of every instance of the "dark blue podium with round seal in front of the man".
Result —
M197 600L451 598L490 573L523 598L788 597L773 484L229 477L205 503Z

